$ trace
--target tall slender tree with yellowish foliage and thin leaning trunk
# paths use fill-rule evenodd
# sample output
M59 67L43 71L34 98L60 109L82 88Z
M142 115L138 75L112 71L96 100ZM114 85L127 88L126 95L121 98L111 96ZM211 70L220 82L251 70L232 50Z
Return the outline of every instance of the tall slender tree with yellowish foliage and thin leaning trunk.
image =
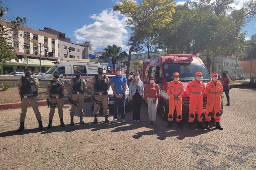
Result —
M174 7L173 0L144 0L138 4L134 0L121 0L121 4L114 6L114 10L120 11L128 18L127 27L133 31L130 37L127 73L130 70L131 54L138 40L143 39L155 29L165 27L171 21ZM128 74L126 78L129 78Z

